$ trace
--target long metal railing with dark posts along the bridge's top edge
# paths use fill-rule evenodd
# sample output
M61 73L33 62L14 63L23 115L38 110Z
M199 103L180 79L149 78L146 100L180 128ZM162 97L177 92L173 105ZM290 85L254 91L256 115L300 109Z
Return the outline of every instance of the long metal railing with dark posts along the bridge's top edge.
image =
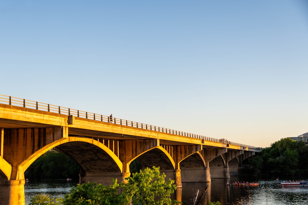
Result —
M188 132L182 132L182 131L177 131L177 130L168 129L168 128L162 128L162 127L158 127L158 126L154 126L154 125L143 124L143 123L133 122L133 121L129 121L129 120L123 120L123 119L115 118L115 117L112 117L112 119L111 119L109 116L99 115L99 114L95 114L95 113L91 113L91 112L85 112L85 111L71 109L71 108L60 107L60 106L41 103L41 102L37 102L37 101L25 100L25 99L22 99L22 98L11 97L11 96L6 96L6 95L0 95L0 103L1 104L8 104L8 105L15 105L15 106L24 107L24 108L42 110L42 111L47 111L47 112L54 112L54 113L59 113L59 114L64 114L64 115L73 115L73 116L76 116L76 117L81 117L81 118L86 118L86 119L98 120L98 121L103 121L103 122L108 122L108 123L113 123L113 124L126 125L126 126L135 127L135 128L153 130L153 131L157 131L157 132L164 132L164 133L169 133L169 134L174 134L174 135L179 135L179 136L193 137L193 138L209 140L209 141L213 141L213 142L222 142L222 143L225 143L225 144L232 144L232 145L240 146L240 147L243 147L243 148L251 148L251 149L261 150L261 148L258 148L258 147L253 147L253 146L249 146L249 145L245 145L245 144L230 142L230 141L226 141L226 140L222 140L222 139L216 139L216 138L212 138L212 137L206 137L206 136L191 134L191 133L188 133Z

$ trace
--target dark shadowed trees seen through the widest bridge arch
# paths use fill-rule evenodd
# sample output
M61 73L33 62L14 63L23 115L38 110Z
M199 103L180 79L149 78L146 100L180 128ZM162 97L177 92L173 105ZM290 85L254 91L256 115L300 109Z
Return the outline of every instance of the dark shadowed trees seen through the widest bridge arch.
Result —
M69 156L50 150L40 156L25 171L25 178L60 179L78 177L80 168Z

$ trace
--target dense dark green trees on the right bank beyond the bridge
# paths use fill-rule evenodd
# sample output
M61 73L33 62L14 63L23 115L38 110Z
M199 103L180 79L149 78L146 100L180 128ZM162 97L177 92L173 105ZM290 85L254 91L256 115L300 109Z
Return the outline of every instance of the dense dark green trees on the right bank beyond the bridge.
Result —
M265 148L252 160L261 174L294 175L308 171L308 147L302 141L283 138Z

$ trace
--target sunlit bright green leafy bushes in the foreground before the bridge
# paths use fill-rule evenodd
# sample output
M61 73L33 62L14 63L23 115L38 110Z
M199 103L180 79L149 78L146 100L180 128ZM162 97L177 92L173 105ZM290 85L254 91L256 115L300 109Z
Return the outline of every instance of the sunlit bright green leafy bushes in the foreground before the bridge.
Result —
M132 177L126 178L128 183L117 183L107 187L96 183L78 184L66 194L63 205L127 205L130 202L136 205L171 205L179 204L171 200L171 194L176 190L174 180L165 182L166 175L160 175L159 168L146 168ZM119 188L123 190L121 194Z

